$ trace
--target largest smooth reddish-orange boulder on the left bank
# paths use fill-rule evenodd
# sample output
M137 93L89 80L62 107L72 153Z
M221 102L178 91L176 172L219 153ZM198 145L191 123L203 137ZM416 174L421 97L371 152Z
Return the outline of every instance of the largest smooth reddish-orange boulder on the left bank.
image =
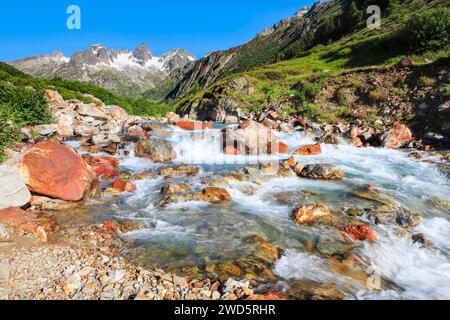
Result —
M98 185L93 169L73 150L54 141L28 149L18 164L30 191L66 201L80 201Z

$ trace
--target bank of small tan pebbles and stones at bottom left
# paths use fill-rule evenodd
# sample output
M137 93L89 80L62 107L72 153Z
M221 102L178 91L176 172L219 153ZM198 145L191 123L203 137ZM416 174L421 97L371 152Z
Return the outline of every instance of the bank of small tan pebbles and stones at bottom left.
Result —
M186 278L161 269L143 269L124 256L119 237L101 226L55 231L51 244L0 250L0 299L12 300L163 300L222 299L221 283L209 279L189 285ZM53 239L53 240L54 240ZM64 239L64 241L58 241ZM8 281L8 290L3 282ZM248 282L227 281L226 299L246 292Z

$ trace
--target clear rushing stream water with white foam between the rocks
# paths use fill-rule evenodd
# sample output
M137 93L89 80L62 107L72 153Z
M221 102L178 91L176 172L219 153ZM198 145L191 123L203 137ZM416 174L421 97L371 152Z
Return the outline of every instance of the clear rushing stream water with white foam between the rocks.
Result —
M160 190L167 181L183 182L193 190L201 190L205 180L242 170L258 160L287 158L226 156L218 127L203 133L203 139L193 139L198 132L174 127L170 130L165 138L178 154L175 165L196 165L200 174L136 181L136 192L122 194L113 204L98 206L94 213L99 219L145 222L145 229L126 235L142 249L144 263L183 268L235 261L250 250L245 239L259 235L283 249L281 258L272 265L276 275L272 285L278 288L289 290L293 281L312 281L332 283L348 299L450 299L450 183L436 166L410 158L405 151L356 148L342 140L340 145L322 145L320 155L297 157L303 163L337 165L347 174L342 181L298 177L233 181L225 186L232 197L231 204L213 206L191 201L161 206ZM277 135L290 150L314 143L314 137L304 132ZM135 158L132 147L129 151L128 156L123 156L122 171L137 174L174 165ZM396 226L374 224L363 215L360 219L373 226L377 240L361 242L355 252L376 275L390 283L375 291L369 290L364 281L337 272L332 260L308 248L308 243L317 239L334 241L335 229L298 226L290 218L293 209L311 202L324 203L334 212L349 208L364 212L380 204L359 193L367 184L375 186L377 195L393 201L396 207L420 213L422 223L410 231L423 234L431 243L422 246L399 234ZM447 206L436 205L440 201Z

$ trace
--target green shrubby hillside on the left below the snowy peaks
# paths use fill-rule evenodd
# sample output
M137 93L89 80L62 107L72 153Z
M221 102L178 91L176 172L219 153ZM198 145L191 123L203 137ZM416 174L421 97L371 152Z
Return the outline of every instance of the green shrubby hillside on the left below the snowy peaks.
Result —
M93 95L107 105L118 105L129 114L160 116L168 107L145 99L118 96L106 89L87 83L60 79L35 79L0 62L0 160L3 149L20 140L20 128L52 122L44 100L44 90L57 90L64 99L91 102L84 94Z

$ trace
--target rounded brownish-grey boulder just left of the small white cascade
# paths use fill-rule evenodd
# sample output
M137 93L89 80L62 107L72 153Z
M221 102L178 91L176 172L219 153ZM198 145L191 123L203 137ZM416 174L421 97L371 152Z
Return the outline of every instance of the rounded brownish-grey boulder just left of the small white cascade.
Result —
M136 144L135 154L153 162L169 162L177 157L171 143L159 139L140 140Z

